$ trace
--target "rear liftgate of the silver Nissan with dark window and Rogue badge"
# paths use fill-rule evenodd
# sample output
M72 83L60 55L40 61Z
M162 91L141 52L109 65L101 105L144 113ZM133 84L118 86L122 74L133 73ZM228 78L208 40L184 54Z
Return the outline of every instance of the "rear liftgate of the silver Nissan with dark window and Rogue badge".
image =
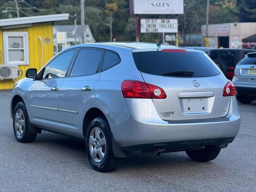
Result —
M163 120L227 115L230 97L222 96L227 79L205 53L138 50L133 56L145 82L166 92L166 99L153 99Z

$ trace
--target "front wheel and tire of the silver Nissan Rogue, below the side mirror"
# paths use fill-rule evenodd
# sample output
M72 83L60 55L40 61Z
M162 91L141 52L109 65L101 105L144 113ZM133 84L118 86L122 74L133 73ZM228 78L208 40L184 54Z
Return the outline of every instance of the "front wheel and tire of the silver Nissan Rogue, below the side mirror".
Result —
M13 131L16 140L20 143L33 142L36 134L32 134L28 128L28 112L23 102L18 102L13 113Z

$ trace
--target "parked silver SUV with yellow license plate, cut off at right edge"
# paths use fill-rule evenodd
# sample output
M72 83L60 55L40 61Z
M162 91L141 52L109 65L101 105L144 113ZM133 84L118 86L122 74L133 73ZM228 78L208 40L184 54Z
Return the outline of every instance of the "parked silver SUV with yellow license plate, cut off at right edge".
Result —
M248 53L238 62L232 82L238 91L239 102L250 104L256 99L256 52Z

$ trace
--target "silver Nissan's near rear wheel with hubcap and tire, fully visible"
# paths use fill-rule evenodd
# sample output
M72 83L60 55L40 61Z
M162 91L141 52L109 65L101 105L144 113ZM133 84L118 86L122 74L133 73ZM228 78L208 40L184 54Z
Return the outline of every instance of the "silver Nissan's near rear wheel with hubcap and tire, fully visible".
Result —
M112 134L105 117L97 117L88 126L86 133L86 152L88 160L99 172L111 172L120 164L112 150Z

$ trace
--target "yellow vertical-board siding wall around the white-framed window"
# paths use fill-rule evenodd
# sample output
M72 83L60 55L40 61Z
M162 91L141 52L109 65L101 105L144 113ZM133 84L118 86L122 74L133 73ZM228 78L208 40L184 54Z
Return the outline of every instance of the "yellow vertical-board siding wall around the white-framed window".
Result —
M29 46L29 65L20 65L18 66L20 70L22 70L22 76L19 79L25 77L26 70L28 68L37 68L39 70L41 68L41 58L42 58L42 45L38 39L38 36L41 36L42 42L44 44L44 58L43 58L43 66L48 62L54 54L53 51L53 31L51 23L36 23L29 27L22 28L11 28L11 29L1 29L0 28L0 51L3 53L3 32L12 31L12 32L20 32L27 31L28 32L28 46ZM44 39L48 37L50 38L50 44L46 44ZM0 57L3 55L0 52ZM1 62L1 59L0 59ZM4 59L0 64L4 64ZM12 89L15 83L14 80L0 80L0 90L1 89Z

